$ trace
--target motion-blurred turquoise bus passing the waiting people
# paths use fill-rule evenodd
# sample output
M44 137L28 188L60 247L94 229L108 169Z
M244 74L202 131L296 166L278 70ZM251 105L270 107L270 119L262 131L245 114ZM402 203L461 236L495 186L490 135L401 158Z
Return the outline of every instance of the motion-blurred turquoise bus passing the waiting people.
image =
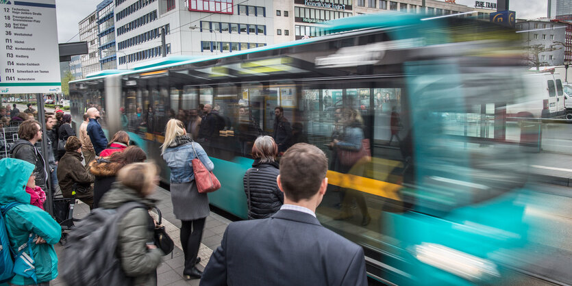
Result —
M291 143L314 144L332 160L316 215L364 248L371 278L391 285L572 281L535 266L551 251L569 250L532 235L541 222L527 204L539 193L527 183L527 149L506 135L503 110L527 92L519 34L470 18L397 14L343 18L317 34L73 81L73 119L79 126L85 110L97 107L105 131L128 131L169 182L160 157L166 122L187 123L212 105L221 123L203 146L223 187L209 200L246 219L249 148L273 133L281 106ZM338 110L362 118L371 151L349 170L335 166L338 151L328 148L338 128L343 138Z

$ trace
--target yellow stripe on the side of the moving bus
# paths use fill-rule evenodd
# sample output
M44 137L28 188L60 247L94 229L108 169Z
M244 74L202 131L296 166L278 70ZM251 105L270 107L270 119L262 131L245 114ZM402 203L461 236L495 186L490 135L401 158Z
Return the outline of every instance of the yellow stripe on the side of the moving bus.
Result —
M360 192L382 196L392 200L401 200L397 192L401 189L401 185L388 183L375 179L356 176L353 174L342 174L340 172L327 171L327 183L337 185L338 187L346 187L348 189L358 190Z

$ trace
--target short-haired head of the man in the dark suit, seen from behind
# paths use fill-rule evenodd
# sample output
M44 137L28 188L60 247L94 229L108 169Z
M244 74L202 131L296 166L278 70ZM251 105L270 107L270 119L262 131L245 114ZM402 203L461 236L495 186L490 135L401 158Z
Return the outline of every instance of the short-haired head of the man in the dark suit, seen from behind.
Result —
M312 198L327 172L327 157L318 147L298 143L280 159L280 183L284 195L295 202Z

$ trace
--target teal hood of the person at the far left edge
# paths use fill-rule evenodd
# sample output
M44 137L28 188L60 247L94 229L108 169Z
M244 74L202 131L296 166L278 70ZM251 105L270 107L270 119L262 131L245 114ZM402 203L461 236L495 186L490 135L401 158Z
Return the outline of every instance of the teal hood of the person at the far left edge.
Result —
M0 160L0 205L25 203L29 205L30 196L26 184L36 166L21 159L5 158Z

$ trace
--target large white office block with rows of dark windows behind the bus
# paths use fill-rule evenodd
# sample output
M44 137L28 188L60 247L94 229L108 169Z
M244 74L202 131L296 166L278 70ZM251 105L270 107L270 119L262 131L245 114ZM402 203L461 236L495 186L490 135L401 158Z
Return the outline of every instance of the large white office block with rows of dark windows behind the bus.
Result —
M211 5L210 5L211 4ZM212 55L273 44L273 1L116 0L119 68L168 55Z

